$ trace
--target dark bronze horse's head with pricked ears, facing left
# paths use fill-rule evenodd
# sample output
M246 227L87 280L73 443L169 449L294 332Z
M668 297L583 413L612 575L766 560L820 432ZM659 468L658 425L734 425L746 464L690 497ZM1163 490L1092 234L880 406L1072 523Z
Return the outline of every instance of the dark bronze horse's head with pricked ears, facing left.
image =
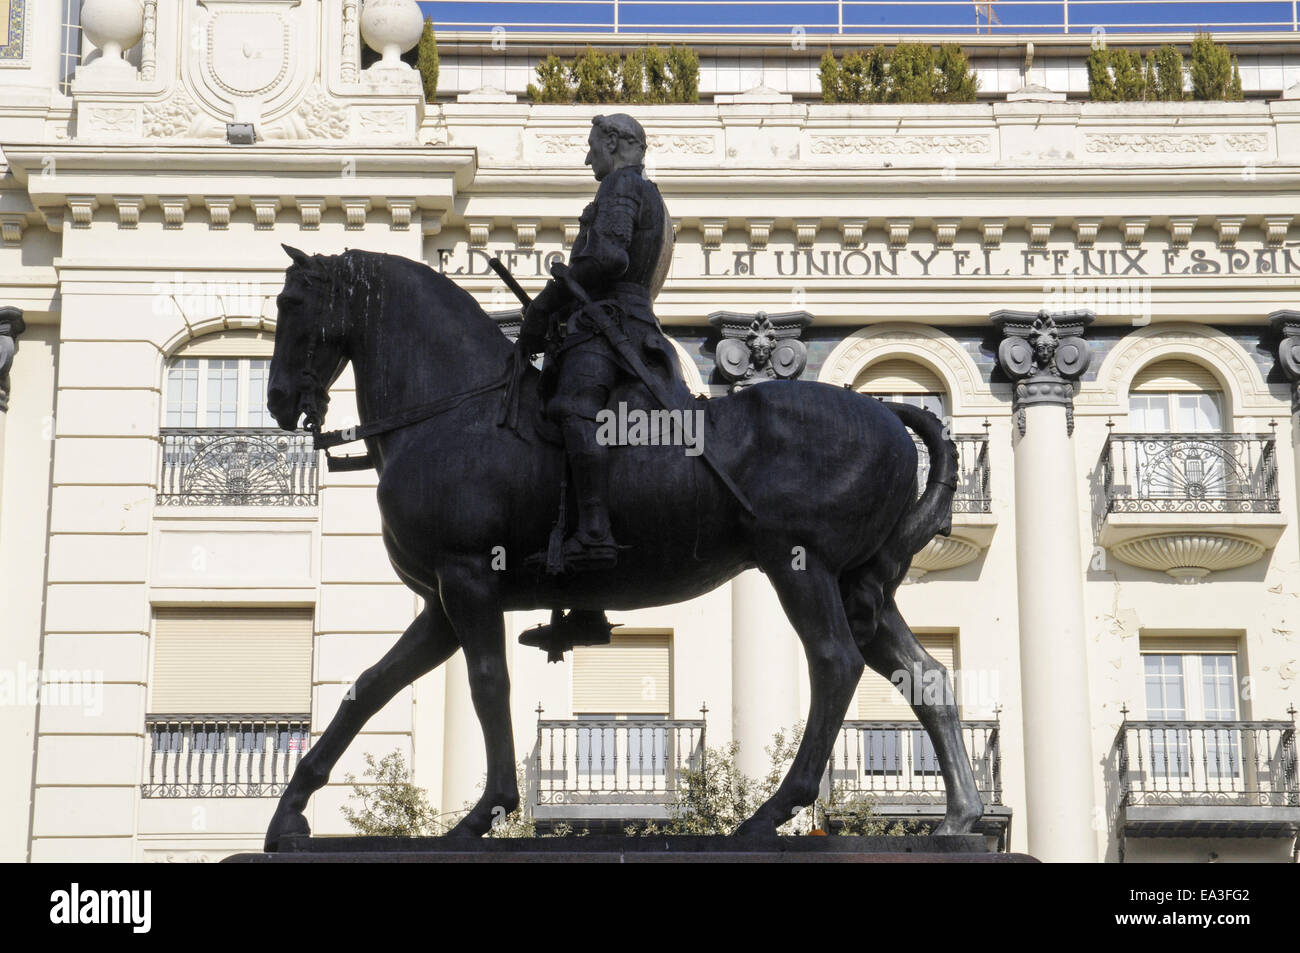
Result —
M330 385L347 364L347 295L339 289L334 260L282 246L294 264L276 299L276 351L270 360L266 410L285 430L318 429L329 406Z

